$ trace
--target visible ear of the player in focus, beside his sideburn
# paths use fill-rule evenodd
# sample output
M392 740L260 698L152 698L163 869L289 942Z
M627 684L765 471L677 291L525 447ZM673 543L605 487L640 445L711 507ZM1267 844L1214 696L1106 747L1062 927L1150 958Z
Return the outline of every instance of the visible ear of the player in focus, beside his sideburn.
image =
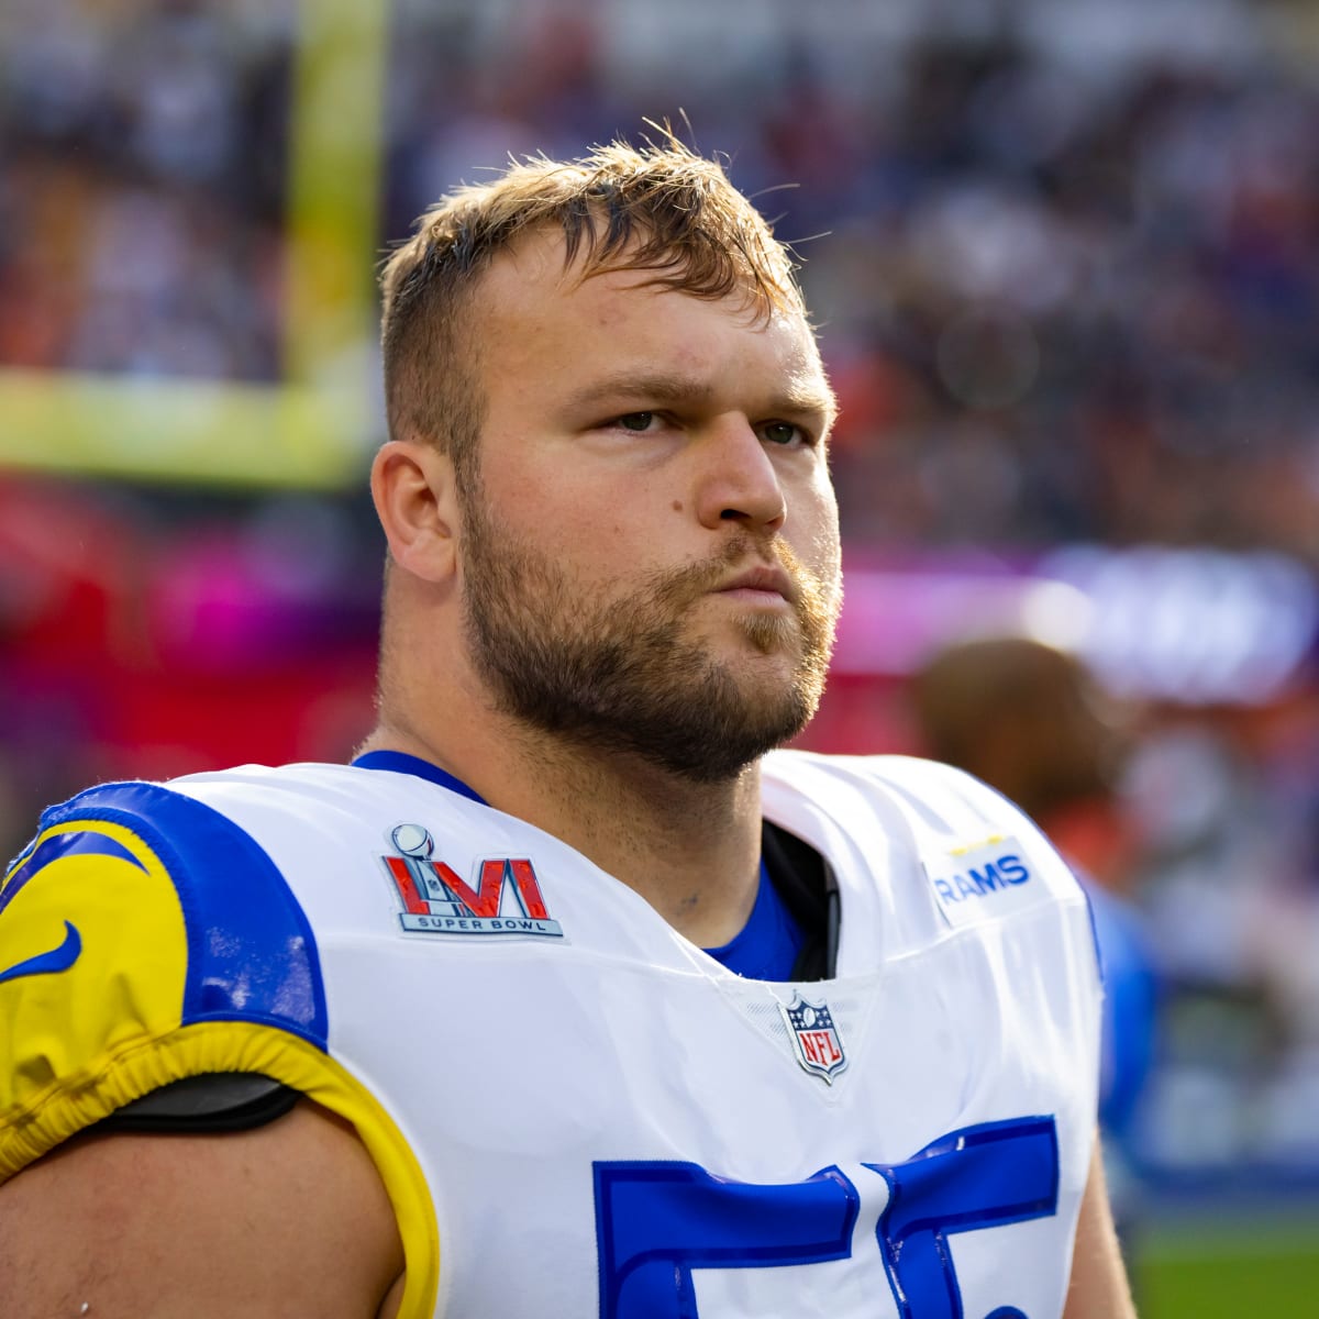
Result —
M458 500L446 454L421 441L388 441L371 464L371 497L394 563L425 582L452 576Z

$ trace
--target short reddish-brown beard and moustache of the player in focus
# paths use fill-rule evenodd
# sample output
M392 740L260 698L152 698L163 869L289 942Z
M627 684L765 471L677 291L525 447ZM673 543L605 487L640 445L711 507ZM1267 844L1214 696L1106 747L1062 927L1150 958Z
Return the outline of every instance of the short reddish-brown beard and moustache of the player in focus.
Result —
M464 501L463 528L466 633L505 714L696 782L735 777L815 714L838 588L785 542L743 533L715 558L654 574L599 603L582 599L559 565L500 526L479 496ZM692 611L731 571L769 562L789 575L791 612L748 609L735 625L757 654L793 657L773 685L739 675L735 663L686 636Z

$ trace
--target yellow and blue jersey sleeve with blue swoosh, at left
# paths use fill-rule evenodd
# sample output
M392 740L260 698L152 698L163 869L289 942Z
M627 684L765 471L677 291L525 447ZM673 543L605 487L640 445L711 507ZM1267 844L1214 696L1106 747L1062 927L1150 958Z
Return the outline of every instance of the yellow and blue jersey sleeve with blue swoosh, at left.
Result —
M152 783L46 811L0 886L0 1181L186 1076L309 1092L326 1050L311 926L237 824Z

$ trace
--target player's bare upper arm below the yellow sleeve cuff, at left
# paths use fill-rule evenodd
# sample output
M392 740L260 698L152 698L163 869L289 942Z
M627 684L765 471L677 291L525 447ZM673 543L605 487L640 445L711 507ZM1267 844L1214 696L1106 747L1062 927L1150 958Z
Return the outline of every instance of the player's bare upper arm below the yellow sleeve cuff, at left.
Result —
M83 1137L0 1187L7 1319L386 1319L401 1273L371 1157L307 1101L244 1133Z

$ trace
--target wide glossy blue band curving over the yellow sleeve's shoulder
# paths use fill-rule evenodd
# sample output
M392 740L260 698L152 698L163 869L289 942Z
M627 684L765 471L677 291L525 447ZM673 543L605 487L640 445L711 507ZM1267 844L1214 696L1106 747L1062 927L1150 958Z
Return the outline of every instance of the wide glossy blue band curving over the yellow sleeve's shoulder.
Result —
M183 1025L264 1021L328 1049L315 935L274 861L228 816L154 783L102 783L47 810L42 828L103 820L132 831L174 881L187 929ZM66 842L67 839L67 842ZM59 844L59 853L44 856ZM117 848L94 830L49 839L22 861L5 900L41 864ZM117 855L117 853L116 853ZM34 864L36 863L36 864Z

